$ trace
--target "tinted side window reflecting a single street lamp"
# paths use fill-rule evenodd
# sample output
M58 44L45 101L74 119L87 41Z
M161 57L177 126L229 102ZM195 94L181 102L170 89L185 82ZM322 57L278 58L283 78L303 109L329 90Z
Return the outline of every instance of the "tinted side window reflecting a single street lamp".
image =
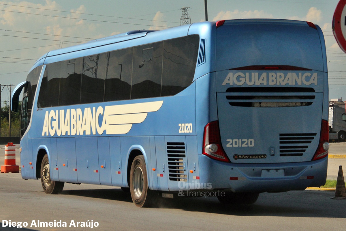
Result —
M130 99L133 48L107 53L104 101Z

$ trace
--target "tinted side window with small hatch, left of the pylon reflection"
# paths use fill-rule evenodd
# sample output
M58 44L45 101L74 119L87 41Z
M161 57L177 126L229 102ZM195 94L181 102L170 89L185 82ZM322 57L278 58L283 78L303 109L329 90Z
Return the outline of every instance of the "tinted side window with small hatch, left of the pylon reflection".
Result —
M83 58L60 62L59 106L79 104Z

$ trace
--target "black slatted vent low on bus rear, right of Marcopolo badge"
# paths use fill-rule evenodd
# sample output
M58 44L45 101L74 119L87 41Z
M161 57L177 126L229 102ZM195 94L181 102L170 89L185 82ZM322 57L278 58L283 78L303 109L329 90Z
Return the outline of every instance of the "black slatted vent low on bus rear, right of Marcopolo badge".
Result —
M303 156L316 133L284 133L280 134L280 156Z

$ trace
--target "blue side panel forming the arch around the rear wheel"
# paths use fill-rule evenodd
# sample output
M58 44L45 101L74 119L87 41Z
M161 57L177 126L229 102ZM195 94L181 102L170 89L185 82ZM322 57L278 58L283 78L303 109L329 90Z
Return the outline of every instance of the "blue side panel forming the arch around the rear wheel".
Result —
M150 163L151 163L151 156L150 156L150 142L149 142L149 136L123 136L120 137L120 147L121 147L121 155L122 159L122 166L124 166L124 171L122 174L122 182L123 186L128 187L127 178L130 176L127 175L127 169L131 168L132 162L128 163L130 154L135 151L139 151L143 154L148 174L148 185L151 184L151 175L149 174L150 171L152 171Z

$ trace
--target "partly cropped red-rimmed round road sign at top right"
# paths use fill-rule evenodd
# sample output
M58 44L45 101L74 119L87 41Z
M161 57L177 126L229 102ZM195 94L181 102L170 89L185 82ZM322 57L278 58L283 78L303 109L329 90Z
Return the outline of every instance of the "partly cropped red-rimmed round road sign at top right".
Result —
M340 0L333 16L333 34L340 48L346 53L346 0Z

